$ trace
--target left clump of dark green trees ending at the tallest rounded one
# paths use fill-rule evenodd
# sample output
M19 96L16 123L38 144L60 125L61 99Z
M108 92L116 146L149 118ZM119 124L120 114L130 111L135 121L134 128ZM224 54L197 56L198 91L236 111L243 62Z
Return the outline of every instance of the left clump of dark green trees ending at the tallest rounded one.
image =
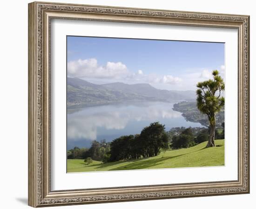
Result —
M155 122L145 127L141 134L121 136L111 143L93 141L89 149L74 147L67 151L67 159L86 159L113 162L157 156L161 149L168 149L168 134L164 125Z

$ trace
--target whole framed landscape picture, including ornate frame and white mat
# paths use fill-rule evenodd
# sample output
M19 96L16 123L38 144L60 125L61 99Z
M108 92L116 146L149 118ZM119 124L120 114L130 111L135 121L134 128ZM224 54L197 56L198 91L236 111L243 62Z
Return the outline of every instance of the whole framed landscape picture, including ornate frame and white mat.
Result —
M28 4L28 204L249 193L249 16Z

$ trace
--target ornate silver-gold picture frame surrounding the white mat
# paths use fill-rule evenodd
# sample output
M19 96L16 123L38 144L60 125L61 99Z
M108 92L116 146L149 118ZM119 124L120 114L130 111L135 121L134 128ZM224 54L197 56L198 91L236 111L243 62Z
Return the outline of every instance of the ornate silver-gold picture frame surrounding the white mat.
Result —
M237 180L51 189L51 21L94 20L238 30ZM249 16L33 2L28 4L28 204L32 207L249 193Z

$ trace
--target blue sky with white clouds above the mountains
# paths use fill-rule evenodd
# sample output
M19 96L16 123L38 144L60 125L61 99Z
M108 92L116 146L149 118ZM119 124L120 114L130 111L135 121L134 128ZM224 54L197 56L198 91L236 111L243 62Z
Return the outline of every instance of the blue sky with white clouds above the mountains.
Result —
M194 90L214 69L224 77L224 43L67 36L67 76L93 83Z

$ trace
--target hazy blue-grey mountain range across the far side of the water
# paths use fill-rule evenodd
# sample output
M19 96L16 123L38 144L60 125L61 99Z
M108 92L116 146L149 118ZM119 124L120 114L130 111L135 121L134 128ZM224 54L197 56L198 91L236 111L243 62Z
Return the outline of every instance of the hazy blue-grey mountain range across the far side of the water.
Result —
M168 91L149 84L92 84L80 78L67 78L67 105L94 106L127 101L194 100L195 91Z

